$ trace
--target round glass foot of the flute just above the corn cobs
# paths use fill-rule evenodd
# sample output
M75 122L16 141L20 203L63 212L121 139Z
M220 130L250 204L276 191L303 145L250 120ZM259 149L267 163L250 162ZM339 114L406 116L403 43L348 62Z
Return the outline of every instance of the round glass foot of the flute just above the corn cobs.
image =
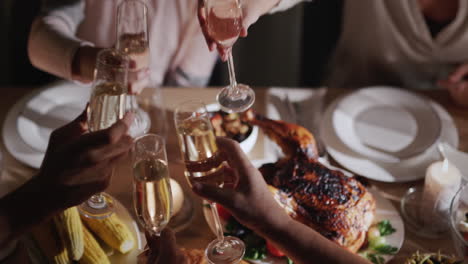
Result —
M82 215L88 218L103 219L114 213L114 198L107 193L96 194L80 204L78 209Z

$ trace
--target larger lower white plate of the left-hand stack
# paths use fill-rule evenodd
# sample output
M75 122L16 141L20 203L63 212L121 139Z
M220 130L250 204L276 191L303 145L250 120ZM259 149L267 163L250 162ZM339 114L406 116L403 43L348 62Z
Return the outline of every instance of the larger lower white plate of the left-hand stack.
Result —
M70 87L73 85L74 84L71 84L69 82L59 82L54 85L45 87L44 89L33 91L32 93L21 98L9 110L5 118L5 122L3 123L2 135L3 135L3 142L5 144L5 147L11 153L13 157L15 157L17 160L36 169L41 166L42 160L44 159L44 152L38 150L38 148L30 146L29 144L25 142L25 140L23 140L23 138L20 136L20 133L18 131L18 118L21 115L26 104L30 100L32 100L35 96L38 96L44 90L68 89L67 87ZM86 91L86 87L76 85L76 88L81 89L83 93L89 93L88 91ZM72 116L70 118L73 119L74 117ZM28 131L24 131L24 132L28 133ZM41 139L41 141L43 141L43 139ZM47 142L48 142L48 138L47 138Z

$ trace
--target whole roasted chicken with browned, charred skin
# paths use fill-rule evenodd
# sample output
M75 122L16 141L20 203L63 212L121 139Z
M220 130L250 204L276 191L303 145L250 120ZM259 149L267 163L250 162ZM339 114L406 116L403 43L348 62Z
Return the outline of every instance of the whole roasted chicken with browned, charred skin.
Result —
M363 245L375 213L375 200L355 178L317 161L314 136L305 128L246 112L285 157L260 172L288 214L352 252Z

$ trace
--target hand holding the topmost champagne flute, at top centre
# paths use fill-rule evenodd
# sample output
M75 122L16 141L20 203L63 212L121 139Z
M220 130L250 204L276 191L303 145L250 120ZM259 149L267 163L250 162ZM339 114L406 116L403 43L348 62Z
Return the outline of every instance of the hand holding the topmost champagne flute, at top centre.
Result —
M242 6L242 28L240 32L241 37L247 37L249 27L257 22L260 16L268 13L280 0L243 0ZM206 21L205 0L198 0L198 22L200 23L203 35L205 36L208 49L213 51L218 50L219 55L223 61L227 60L227 52L225 49L216 44L216 41L210 36L208 24Z

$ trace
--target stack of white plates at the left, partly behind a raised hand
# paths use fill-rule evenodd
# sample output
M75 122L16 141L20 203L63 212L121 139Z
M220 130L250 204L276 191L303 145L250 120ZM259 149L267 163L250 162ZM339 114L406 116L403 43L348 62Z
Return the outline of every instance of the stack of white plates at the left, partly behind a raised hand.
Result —
M86 107L90 87L60 82L18 101L3 125L3 142L19 161L39 168L50 133L76 118Z

